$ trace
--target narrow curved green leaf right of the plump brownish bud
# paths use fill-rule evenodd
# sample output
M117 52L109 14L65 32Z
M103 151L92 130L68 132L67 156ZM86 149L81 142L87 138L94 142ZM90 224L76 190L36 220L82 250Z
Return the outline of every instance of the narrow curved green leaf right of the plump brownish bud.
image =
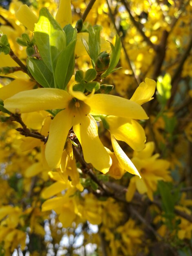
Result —
M106 76L108 76L109 74L111 74L112 72L115 71L114 68L118 64L118 61L119 61L119 58L120 58L120 55L121 55L121 38L118 35L116 35L115 46L112 45L112 43L110 43L110 45L111 45L111 48L112 48L112 54L110 56L109 67L101 75L101 78L105 78Z

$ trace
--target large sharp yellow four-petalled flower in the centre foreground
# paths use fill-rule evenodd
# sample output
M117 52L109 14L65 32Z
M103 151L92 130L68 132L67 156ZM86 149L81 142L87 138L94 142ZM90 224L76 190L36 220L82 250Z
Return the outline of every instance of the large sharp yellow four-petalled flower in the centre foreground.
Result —
M4 107L18 113L61 109L51 122L45 148L45 157L50 168L59 166L68 132L73 126L85 161L106 173L111 166L111 158L98 137L98 127L92 115L114 115L134 119L147 119L147 115L134 101L107 94L86 97L82 92L74 92L70 88L71 95L55 88L19 92L6 99Z

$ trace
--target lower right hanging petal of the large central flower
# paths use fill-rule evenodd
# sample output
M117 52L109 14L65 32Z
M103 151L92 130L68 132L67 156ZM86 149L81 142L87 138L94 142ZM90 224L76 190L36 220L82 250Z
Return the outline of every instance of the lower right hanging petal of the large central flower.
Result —
M81 123L73 128L83 148L85 161L91 163L98 171L107 173L112 160L98 137L95 119L91 115L82 117Z

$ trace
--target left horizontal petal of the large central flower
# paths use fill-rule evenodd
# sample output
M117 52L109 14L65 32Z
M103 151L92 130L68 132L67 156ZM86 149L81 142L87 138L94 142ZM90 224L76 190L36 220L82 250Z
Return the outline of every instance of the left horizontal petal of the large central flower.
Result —
M67 106L69 99L71 97L64 90L40 88L15 94L4 101L4 108L17 113L62 109Z

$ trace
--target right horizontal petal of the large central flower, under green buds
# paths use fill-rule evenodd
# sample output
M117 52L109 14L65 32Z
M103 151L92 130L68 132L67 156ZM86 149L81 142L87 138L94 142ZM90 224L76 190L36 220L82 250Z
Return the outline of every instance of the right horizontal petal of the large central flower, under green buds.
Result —
M145 111L134 101L108 94L94 94L85 101L91 115L113 115L132 119L148 119Z

